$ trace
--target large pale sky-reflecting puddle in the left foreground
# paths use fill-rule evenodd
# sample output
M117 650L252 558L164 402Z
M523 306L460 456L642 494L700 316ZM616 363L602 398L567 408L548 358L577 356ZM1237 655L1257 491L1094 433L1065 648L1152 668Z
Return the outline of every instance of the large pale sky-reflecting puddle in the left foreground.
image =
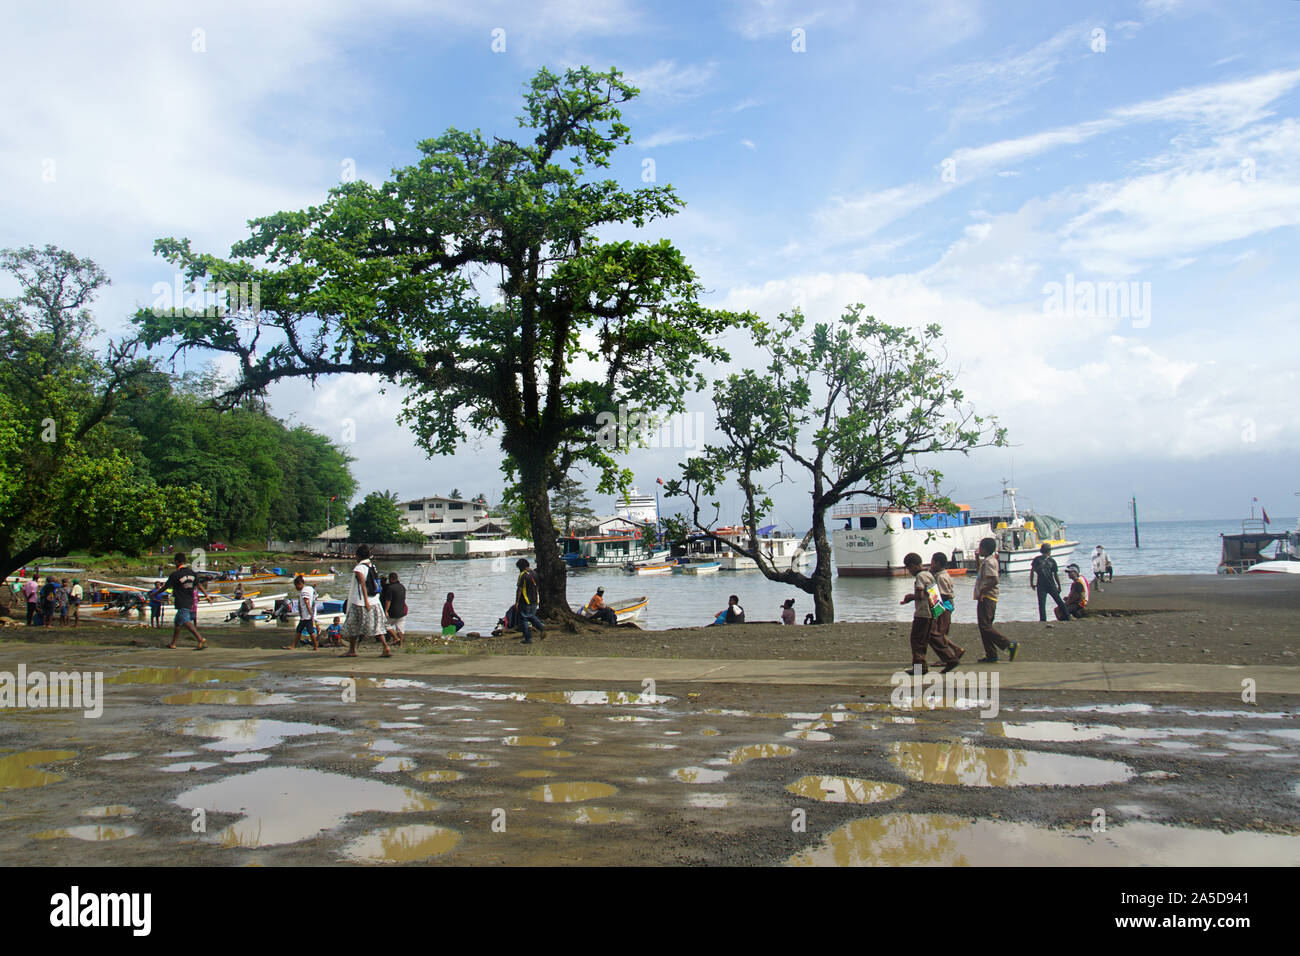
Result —
M307 840L342 825L354 813L438 809L436 800L410 787L299 767L263 767L226 777L187 790L173 803L208 814L240 814L240 819L207 839L246 848Z

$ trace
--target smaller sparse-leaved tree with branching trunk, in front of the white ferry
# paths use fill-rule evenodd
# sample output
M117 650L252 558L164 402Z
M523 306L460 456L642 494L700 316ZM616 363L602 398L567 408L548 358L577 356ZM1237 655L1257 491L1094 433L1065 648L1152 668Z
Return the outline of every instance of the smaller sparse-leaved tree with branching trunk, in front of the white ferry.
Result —
M670 496L692 502L692 524L753 558L766 578L812 596L818 623L835 620L831 538L827 515L846 498L880 498L902 507L952 510L937 489L942 472L931 457L1005 445L1006 433L976 415L956 373L945 367L937 325L913 332L864 316L852 306L838 321L805 328L801 312L755 325L767 350L767 369L746 369L714 386L720 445L680 466ZM926 458L923 464L918 458ZM759 544L758 527L772 511L764 473L793 470L806 479L816 563L805 574L776 567ZM740 486L746 540L719 537L719 505L712 501L728 479Z

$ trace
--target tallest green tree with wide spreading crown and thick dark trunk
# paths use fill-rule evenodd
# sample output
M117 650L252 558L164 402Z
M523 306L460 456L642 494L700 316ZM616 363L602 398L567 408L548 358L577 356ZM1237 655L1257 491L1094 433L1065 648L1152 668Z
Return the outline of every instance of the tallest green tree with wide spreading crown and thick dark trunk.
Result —
M599 415L680 410L737 321L698 303L696 273L670 242L602 239L682 206L671 186L592 174L630 143L619 107L636 92L618 70L543 69L524 95L523 135L448 129L386 182L344 183L317 207L255 220L231 258L159 241L190 280L247 282L257 307L142 311L142 336L235 356L231 398L372 373L406 389L430 454L497 436L528 514L542 613L569 614L547 492L582 460L601 470L602 490L624 477L615 449L594 440Z

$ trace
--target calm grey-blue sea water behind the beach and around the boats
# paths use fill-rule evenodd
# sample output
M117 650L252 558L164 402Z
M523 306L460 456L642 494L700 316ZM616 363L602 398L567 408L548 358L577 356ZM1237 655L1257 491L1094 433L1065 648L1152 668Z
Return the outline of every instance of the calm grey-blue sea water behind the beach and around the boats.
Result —
M1295 519L1275 519L1274 528L1294 528ZM1131 524L1071 524L1070 537L1079 542L1074 555L1062 566L1076 562L1089 567L1096 545L1110 554L1115 576L1164 574L1214 574L1219 558L1219 533L1239 532L1240 522L1150 522L1139 528L1141 548L1134 548ZM467 630L488 632L514 601L515 561L476 559L445 561L432 567L424 591L411 591L408 626L412 630L437 630L442 620L442 602L448 591L456 594L456 611L465 619ZM415 572L413 563L384 564L384 571L396 571L403 581ZM342 579L341 579L342 580ZM975 605L970 600L974 579L956 579L957 620L972 622ZM812 598L801 591L768 581L757 571L719 571L714 575L655 575L637 578L621 571L572 571L569 602L581 606L603 585L610 601L646 596L649 606L641 626L650 630L707 624L727 607L728 594L740 597L750 620L777 620L781 602L794 598L798 620L812 610ZM342 593L342 584L322 585L322 592ZM835 607L838 620L909 620L910 605L900 600L910 591L904 578L836 578ZM1028 575L1004 578L998 601L1000 620L1037 620L1037 598L1028 587ZM1050 611L1049 611L1050 613Z

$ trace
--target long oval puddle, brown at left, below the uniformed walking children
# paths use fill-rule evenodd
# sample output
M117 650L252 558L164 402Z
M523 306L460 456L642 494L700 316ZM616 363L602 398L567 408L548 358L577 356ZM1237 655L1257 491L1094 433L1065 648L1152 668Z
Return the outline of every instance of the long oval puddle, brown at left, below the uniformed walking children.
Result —
M1102 787L1134 777L1126 763L950 743L897 743L890 762L913 780L956 787Z

